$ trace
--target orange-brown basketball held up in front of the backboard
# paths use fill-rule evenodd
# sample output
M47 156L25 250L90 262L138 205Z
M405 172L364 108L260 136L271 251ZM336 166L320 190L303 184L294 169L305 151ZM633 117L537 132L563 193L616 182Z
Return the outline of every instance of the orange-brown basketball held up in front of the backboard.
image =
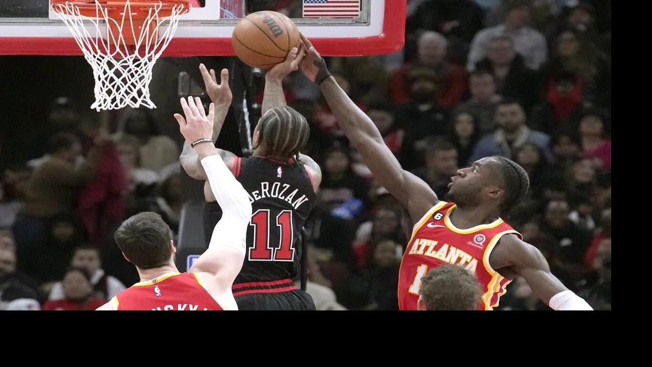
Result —
M273 11L249 14L235 25L231 44L235 55L250 67L270 69L299 46L299 29L287 16Z

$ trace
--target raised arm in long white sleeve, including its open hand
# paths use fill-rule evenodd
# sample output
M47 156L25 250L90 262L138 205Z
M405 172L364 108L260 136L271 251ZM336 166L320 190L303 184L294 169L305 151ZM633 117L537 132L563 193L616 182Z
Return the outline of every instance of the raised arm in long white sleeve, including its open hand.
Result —
M181 106L185 118L180 114L174 117L186 142L196 151L223 212L213 230L209 248L188 272L213 274L220 286L230 289L244 262L246 231L252 211L249 196L226 167L210 138L215 105L211 103L208 116L199 98L188 97L187 102L181 99Z

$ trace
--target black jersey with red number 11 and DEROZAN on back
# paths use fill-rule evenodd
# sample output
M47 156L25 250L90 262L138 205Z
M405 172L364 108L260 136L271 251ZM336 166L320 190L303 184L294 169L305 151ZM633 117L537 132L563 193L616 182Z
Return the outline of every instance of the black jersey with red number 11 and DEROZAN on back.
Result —
M281 163L256 155L237 157L233 175L252 204L244 264L234 284L293 278L301 258L301 229L315 204L312 176L293 161ZM207 242L220 217L217 202L204 203Z

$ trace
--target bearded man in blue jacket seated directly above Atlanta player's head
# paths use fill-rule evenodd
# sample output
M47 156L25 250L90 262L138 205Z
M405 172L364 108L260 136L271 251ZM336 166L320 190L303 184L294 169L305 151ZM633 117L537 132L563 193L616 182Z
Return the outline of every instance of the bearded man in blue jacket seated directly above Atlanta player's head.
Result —
M469 165L492 155L511 158L514 150L527 142L539 147L546 161L553 161L554 157L548 146L550 136L526 126L526 113L520 103L511 99L501 101L496 108L496 122L498 129L478 142L469 159Z

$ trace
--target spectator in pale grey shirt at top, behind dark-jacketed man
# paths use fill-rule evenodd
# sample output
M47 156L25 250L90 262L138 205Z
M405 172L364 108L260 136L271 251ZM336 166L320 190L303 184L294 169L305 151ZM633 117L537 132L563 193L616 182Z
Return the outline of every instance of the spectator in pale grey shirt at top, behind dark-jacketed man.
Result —
M543 35L529 27L531 7L526 0L507 0L507 15L503 24L479 31L473 38L467 61L467 69L473 71L475 64L488 54L490 42L498 36L514 40L514 49L531 69L539 69L548 58L548 45Z

